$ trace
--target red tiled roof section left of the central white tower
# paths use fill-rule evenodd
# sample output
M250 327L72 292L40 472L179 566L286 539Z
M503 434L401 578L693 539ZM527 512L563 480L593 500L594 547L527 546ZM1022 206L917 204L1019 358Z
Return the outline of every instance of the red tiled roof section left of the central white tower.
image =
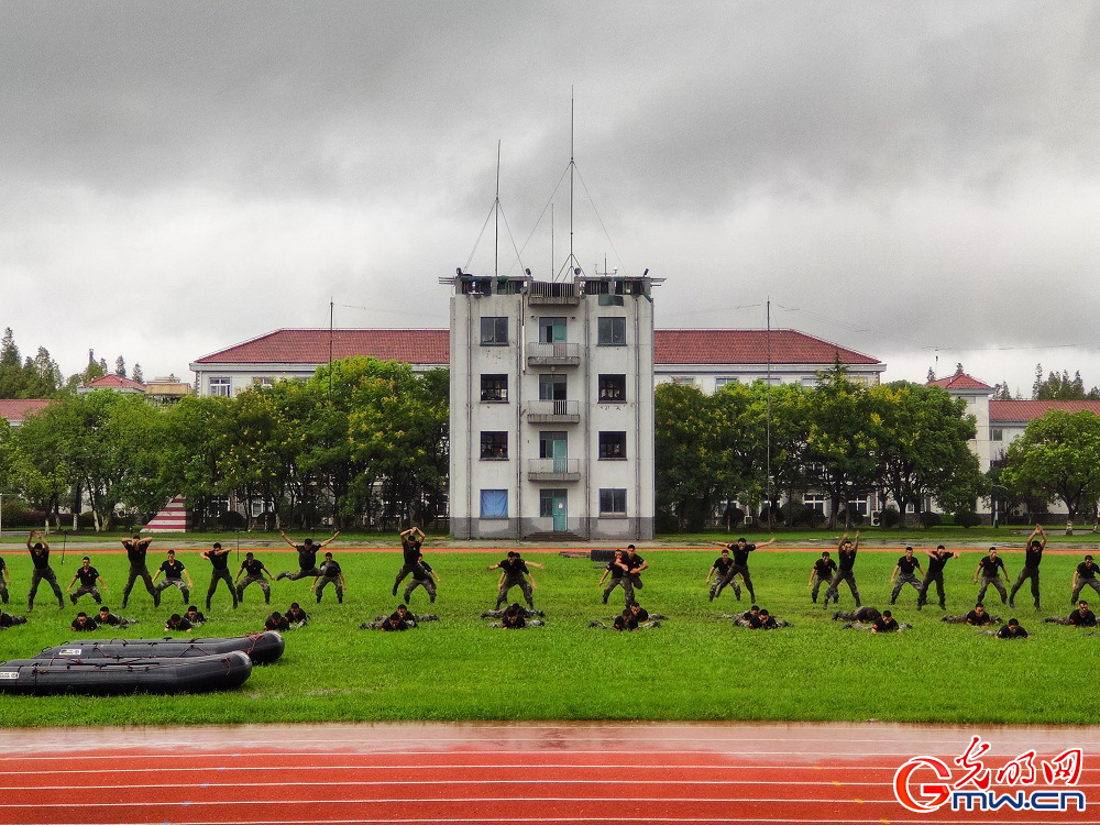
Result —
M450 330L338 329L332 332L332 358L373 355L408 364L448 364ZM323 364L329 360L327 329L277 329L251 341L197 359L197 364Z

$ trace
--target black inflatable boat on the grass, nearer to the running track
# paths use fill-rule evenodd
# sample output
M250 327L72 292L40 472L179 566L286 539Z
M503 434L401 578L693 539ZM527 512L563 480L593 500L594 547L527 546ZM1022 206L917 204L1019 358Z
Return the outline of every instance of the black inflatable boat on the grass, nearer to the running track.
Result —
M2 693L199 693L238 688L252 660L232 650L173 659L13 659L0 664Z

